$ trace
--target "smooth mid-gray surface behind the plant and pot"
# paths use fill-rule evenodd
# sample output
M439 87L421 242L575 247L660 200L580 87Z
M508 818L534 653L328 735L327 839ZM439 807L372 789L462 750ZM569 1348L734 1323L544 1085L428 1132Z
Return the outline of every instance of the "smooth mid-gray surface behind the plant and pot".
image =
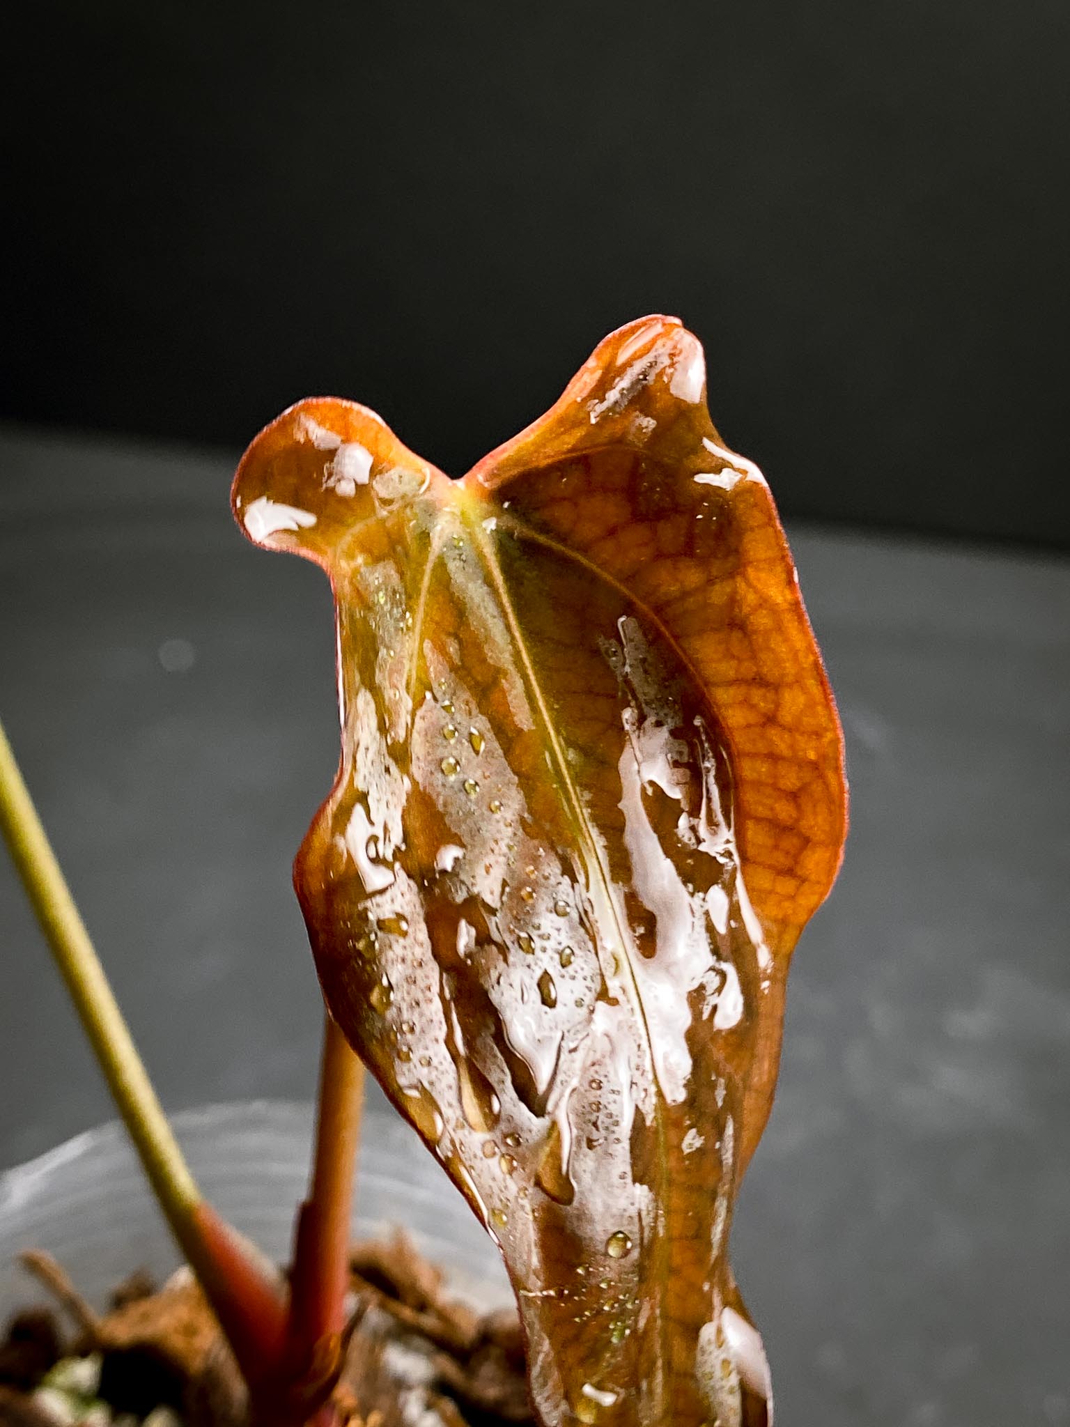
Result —
M0 706L168 1107L310 1096L331 605L231 464L0 434ZM782 1427L1070 1421L1070 565L793 527L853 828L733 1253ZM0 860L0 1166L110 1114ZM367 1134L382 1116L372 1097Z

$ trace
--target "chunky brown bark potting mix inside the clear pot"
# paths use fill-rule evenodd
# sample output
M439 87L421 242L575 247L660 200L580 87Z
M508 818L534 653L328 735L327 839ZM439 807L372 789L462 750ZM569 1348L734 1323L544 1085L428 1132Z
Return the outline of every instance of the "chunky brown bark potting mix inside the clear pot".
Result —
M247 1427L248 1403L200 1287L144 1273L97 1316L44 1254L53 1300L0 1341L0 1427ZM514 1310L478 1313L397 1233L351 1253L351 1319L334 1403L345 1427L521 1427L532 1421Z

